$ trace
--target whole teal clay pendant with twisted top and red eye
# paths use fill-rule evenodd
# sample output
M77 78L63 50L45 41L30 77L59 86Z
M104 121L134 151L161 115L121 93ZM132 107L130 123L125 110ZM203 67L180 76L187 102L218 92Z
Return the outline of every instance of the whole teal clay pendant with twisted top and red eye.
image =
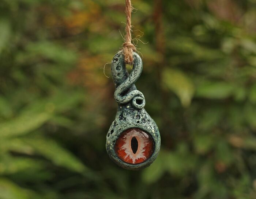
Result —
M112 60L111 70L118 108L106 136L106 150L120 167L148 167L157 158L161 138L157 125L144 109L144 95L134 85L142 73L142 59L133 52L133 69L128 74L120 51Z

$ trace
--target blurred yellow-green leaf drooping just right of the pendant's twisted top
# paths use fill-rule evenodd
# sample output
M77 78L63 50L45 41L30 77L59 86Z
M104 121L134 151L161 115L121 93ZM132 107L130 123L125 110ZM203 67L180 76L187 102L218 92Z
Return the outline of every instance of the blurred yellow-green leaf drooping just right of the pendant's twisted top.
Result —
M168 89L173 91L181 101L182 106L190 105L193 94L193 82L182 71L166 69L163 71L163 83Z

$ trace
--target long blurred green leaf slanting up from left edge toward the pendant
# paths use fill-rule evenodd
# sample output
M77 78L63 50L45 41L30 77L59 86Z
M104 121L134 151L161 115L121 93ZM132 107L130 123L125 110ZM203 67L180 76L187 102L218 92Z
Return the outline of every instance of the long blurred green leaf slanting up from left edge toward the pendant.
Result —
M69 110L82 99L83 95L80 92L69 94L58 92L50 98L35 101L24 108L16 118L0 123L0 137L29 133L50 120L54 112Z

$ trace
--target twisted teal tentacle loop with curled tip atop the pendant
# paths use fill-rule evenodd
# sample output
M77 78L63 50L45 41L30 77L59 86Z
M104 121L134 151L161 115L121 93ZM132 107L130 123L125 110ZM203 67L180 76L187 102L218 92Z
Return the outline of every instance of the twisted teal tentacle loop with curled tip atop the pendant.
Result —
M112 77L116 85L114 99L118 104L127 104L132 100L132 105L135 108L144 108L146 104L144 95L134 85L142 73L142 68L142 59L136 52L133 52L133 68L130 74L128 74L125 67L123 53L118 52L114 56L112 61Z

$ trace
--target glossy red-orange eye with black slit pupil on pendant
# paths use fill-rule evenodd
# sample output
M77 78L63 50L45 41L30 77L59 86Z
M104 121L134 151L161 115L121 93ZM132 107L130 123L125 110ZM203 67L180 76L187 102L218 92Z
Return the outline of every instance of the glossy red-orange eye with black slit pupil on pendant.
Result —
M154 145L151 137L141 129L125 130L116 141L117 156L126 163L139 164L151 157Z

